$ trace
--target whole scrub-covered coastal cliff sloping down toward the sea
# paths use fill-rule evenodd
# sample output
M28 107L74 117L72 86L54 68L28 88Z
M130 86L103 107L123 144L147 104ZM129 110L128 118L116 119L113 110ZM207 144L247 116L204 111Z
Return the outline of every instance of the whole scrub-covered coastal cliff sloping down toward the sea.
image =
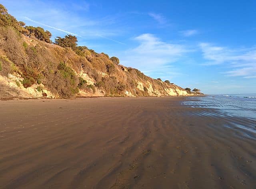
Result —
M0 11L0 98L201 94L77 46L75 36L58 37L52 43L47 30L25 26L2 5Z

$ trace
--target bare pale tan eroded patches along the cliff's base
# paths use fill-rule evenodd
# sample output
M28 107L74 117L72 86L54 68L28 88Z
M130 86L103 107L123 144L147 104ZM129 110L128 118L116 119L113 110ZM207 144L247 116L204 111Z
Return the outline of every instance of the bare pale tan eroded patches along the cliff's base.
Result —
M96 87L96 81L89 77L84 71L77 73L79 77L82 77L89 86L93 86L94 90L79 89L76 96L108 96L104 89ZM107 73L102 74L108 77ZM0 98L60 98L58 94L53 94L42 83L35 83L31 87L25 88L22 85L24 78L17 73L8 74L7 76L0 75L0 88L4 89L5 95L0 95ZM154 80L153 80L154 81ZM157 83L150 81L136 81L137 86L135 89L124 89L122 96L190 96L194 94L187 93L186 90L176 85L164 83L162 81L156 81ZM141 94L138 95L138 90ZM115 96L115 95L112 95ZM120 96L120 95L118 95Z

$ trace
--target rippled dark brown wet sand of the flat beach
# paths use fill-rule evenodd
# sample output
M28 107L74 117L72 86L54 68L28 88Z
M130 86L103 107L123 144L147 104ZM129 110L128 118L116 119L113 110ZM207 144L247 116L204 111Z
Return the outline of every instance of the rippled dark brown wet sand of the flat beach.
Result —
M0 188L256 188L255 120L181 100L0 101Z

